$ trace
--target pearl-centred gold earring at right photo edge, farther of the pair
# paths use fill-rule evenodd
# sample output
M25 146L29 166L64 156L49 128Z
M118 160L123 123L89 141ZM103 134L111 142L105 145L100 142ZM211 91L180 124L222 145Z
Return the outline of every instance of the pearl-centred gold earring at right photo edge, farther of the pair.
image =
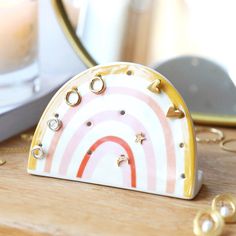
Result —
M226 223L236 222L236 199L231 194L217 195L211 205L214 211L218 211Z

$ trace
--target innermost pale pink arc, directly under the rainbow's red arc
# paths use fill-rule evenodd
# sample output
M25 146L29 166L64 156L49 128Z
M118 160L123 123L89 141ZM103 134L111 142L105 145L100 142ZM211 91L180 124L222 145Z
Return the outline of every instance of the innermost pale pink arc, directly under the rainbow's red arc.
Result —
M108 149L110 150L109 151L110 155L114 154L114 156L117 156L117 153L125 154L124 148L122 148L117 143L113 143L113 142L104 143L103 145L101 145L100 147L96 149L96 152L94 152L91 155L91 158L84 170L83 178L88 179L88 180L92 178L92 175L99 161L101 161L101 159L104 158L104 155L105 153L107 153ZM114 159L114 163L116 163L115 159ZM122 170L123 187L127 187L127 188L131 187L131 179L130 179L131 173L130 173L129 165L127 163L124 163L124 165L121 165L119 168Z

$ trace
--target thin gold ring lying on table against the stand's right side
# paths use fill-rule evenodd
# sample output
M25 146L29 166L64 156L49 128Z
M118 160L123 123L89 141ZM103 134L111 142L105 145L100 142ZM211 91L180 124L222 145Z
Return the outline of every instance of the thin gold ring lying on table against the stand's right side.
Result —
M224 133L219 129L202 127L202 128L195 128L195 131L196 134L210 133L210 134L216 134L218 136L217 138L200 138L196 136L196 141L198 143L219 143L224 139Z

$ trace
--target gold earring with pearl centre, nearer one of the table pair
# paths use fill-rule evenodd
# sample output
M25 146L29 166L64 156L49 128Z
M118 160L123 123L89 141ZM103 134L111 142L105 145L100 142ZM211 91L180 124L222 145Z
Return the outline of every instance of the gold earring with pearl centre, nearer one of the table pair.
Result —
M197 236L219 236L224 220L218 211L199 211L193 221L193 232Z

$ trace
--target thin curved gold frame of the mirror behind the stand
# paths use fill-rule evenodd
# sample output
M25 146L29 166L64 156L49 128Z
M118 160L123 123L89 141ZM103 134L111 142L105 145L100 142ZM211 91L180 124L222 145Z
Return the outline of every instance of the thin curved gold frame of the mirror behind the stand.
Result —
M51 0L58 22L72 48L79 56L81 61L88 68L98 65L93 57L88 53L82 42L76 36L71 23L67 17L65 8L61 0ZM211 115L204 113L191 112L195 124L217 125L217 126L236 126L236 115Z

